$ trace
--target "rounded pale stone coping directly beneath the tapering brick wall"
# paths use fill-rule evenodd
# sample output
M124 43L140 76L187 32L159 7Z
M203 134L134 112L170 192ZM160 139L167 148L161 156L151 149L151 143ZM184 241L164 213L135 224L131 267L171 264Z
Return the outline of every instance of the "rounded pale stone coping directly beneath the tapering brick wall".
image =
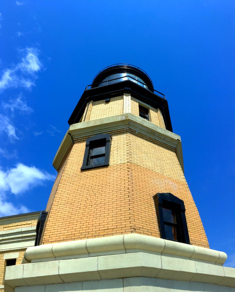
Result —
M226 253L213 249L130 233L29 247L25 252L22 263L143 251L153 254L161 253L161 255L183 257L185 259L219 266L223 265L227 259Z

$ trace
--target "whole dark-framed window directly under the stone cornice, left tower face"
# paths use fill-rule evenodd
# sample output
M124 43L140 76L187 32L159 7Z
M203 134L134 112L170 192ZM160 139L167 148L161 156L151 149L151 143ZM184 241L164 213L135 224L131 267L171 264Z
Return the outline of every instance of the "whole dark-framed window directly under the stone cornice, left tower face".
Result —
M98 134L86 141L81 170L109 165L110 134Z

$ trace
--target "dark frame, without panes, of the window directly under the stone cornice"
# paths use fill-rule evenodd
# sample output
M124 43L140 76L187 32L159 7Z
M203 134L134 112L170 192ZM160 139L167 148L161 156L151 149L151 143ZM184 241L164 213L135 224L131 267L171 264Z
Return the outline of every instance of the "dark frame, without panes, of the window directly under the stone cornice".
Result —
M89 160L90 160L90 150L91 150L92 145L95 144L95 141L97 141L97 143L99 143L98 141L100 141L100 140L104 140L102 142L105 143L104 162L100 163L100 164L96 164L96 165L87 165ZM111 142L111 135L110 134L97 134L95 136L88 138L86 140L86 146L85 146L85 152L84 152L84 158L83 158L81 170L109 165L110 142Z

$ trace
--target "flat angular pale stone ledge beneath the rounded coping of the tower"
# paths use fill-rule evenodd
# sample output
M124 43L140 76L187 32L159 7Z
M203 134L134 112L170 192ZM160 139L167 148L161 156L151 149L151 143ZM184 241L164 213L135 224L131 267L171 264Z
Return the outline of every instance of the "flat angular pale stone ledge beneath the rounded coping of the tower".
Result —
M144 252L10 266L6 269L5 284L15 288L130 277L198 281L235 287L235 269Z

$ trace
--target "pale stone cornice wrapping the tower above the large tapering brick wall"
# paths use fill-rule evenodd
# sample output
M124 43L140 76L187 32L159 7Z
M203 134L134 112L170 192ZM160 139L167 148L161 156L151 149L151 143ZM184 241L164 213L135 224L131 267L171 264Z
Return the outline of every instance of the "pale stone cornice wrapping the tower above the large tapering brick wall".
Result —
M59 170L59 166L64 159L64 155L67 153L69 147L71 147L73 140L99 133L109 133L113 130L125 128L134 130L137 135L147 135L156 141L174 148L181 168L184 171L180 136L131 113L124 113L71 125L55 155L53 166L57 171Z

